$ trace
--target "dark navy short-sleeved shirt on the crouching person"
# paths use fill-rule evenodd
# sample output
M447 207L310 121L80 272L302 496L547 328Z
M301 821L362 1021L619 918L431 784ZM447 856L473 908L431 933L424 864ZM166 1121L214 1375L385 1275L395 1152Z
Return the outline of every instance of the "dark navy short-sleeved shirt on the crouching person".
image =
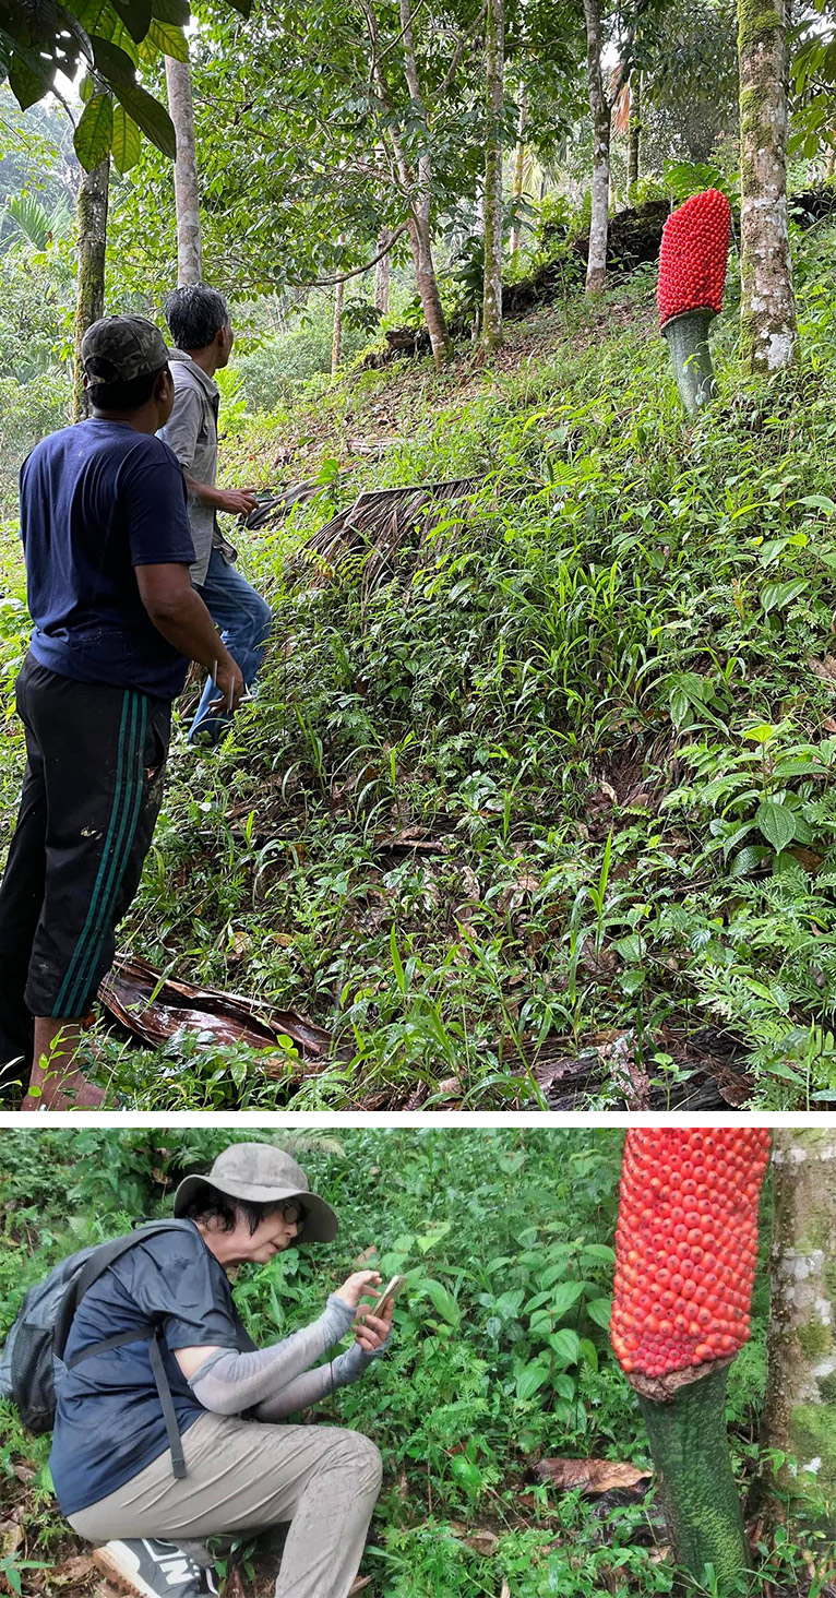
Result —
M171 1350L254 1347L227 1275L192 1222L136 1243L109 1266L85 1293L64 1355L69 1360L91 1342L149 1322L163 1334L163 1363L182 1433L206 1409ZM64 1515L115 1493L166 1449L147 1342L91 1354L59 1376L50 1470Z

